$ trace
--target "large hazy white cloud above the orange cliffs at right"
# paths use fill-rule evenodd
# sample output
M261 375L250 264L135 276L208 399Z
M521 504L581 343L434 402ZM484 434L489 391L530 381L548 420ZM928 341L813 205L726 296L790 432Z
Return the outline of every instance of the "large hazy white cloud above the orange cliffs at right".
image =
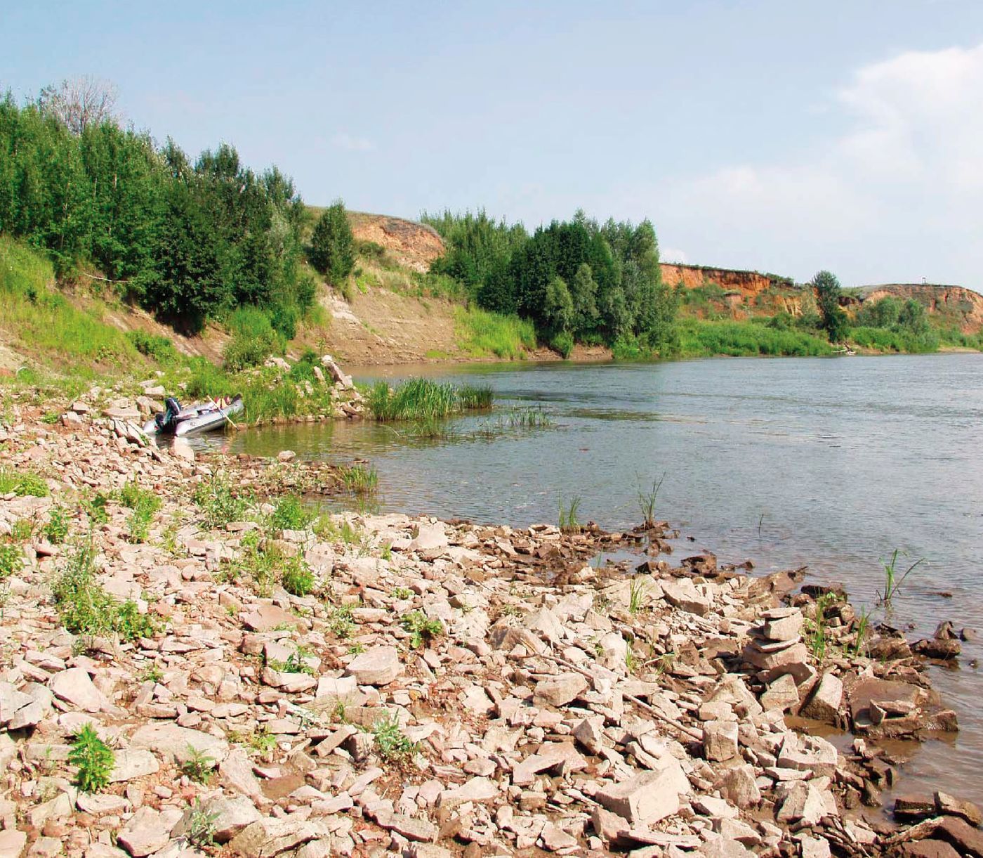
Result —
M814 114L802 150L669 182L661 226L701 263L979 287L981 103L983 45L864 66ZM824 134L834 124L847 130Z

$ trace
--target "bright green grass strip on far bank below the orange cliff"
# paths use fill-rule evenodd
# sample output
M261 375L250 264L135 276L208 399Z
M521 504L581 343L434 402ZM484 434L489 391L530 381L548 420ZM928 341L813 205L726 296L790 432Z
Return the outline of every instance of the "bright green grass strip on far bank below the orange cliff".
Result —
M712 322L682 319L679 354L682 357L829 354L830 343L805 331L781 331L764 322Z

